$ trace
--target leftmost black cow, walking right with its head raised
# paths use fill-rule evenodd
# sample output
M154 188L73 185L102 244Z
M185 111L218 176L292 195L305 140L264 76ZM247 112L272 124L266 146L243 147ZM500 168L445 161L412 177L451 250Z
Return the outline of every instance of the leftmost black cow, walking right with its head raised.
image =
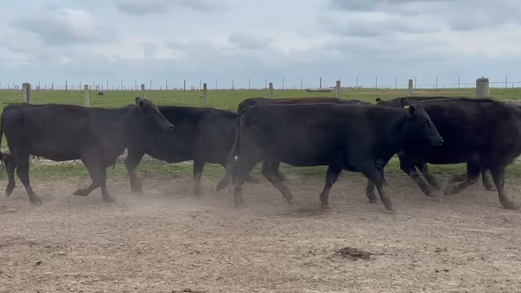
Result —
M105 109L63 104L11 104L4 108L0 122L0 141L5 133L18 177L31 202L42 202L29 184L29 156L53 161L80 159L92 178L92 184L78 189L75 196L88 196L101 187L103 200L114 202L106 187L107 168L125 151L130 138L138 133L160 129L170 131L172 124L148 100L137 97L135 105ZM6 195L15 187L9 177ZM13 184L11 184L11 182Z

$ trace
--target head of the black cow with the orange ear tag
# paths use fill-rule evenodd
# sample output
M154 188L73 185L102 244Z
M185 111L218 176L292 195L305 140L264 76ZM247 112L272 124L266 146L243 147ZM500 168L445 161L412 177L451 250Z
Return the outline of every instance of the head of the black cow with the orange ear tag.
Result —
M400 99L400 104L407 111L407 118L403 125L403 134L406 140L427 140L433 146L439 146L443 143L443 138L423 106L411 105L406 97Z

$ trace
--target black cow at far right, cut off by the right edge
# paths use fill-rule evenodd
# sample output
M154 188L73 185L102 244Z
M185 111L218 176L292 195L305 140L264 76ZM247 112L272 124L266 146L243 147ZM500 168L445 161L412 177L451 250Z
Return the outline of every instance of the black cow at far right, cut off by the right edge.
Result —
M445 194L464 190L476 183L480 172L490 170L501 204L506 209L517 209L506 196L504 176L506 166L521 154L521 108L492 99L473 98L430 100L421 105L445 142L439 148L425 144L406 146L399 155L402 170L421 187L423 181L417 174L414 176L415 165L467 163L465 182L450 186ZM371 197L371 193L376 200L374 187L368 182L367 196Z

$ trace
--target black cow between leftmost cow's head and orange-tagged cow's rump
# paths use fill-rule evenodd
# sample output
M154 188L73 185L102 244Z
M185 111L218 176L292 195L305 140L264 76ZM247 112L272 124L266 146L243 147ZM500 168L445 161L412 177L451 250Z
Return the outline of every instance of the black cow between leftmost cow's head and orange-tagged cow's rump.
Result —
M158 106L174 130L136 133L131 138L125 160L132 191L143 188L135 172L146 153L158 160L179 163L193 160L194 193L201 193L200 179L205 163L227 167L227 157L235 141L237 113L214 108ZM249 177L255 182L254 177Z

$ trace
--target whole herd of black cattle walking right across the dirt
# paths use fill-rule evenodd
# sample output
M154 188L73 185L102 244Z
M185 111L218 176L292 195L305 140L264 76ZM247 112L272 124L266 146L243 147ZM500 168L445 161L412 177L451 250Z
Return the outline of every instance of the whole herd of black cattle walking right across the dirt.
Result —
M466 163L465 175L454 176L445 194L461 192L481 175L483 186L497 190L506 209L517 209L504 190L505 168L521 154L521 107L493 99L469 97L398 97L376 104L328 97L267 99L240 103L237 113L214 108L156 106L137 97L121 108L64 104L10 104L2 113L0 141L10 152L0 154L8 174L7 197L15 188L15 169L31 202L41 199L29 182L30 156L53 161L81 160L92 178L73 194L88 196L101 188L103 200L114 201L106 187L107 168L125 150L132 191L142 185L135 168L144 154L168 163L193 160L195 194L201 193L205 163L226 169L217 190L232 182L235 206L243 207L245 181L262 174L287 202L293 195L283 184L281 162L292 166L328 166L322 207L342 170L367 177L370 203L387 210L384 167L398 154L401 169L428 197L441 190L427 163ZM427 179L424 182L419 170ZM490 175L492 178L490 178ZM492 180L491 180L492 179ZM453 185L456 181L464 181Z

